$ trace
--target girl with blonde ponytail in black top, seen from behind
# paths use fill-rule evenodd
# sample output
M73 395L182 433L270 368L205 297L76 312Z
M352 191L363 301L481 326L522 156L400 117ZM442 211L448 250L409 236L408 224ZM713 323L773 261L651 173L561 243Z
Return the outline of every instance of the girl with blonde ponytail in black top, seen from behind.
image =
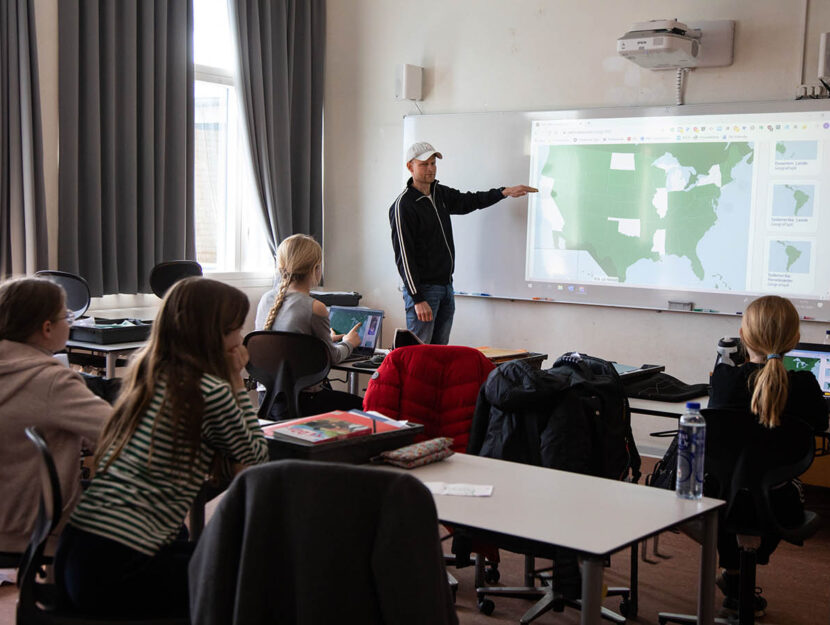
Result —
M799 340L798 312L792 303L774 295L753 301L743 314L741 340L749 353L749 362L738 367L720 363L712 373L709 408L750 411L758 424L773 429L789 420L801 419L816 432L827 429L827 407L816 378L809 371L788 372L781 357ZM786 453L785 449L781 450ZM793 483L776 489L773 500L776 516L787 519L802 517L803 505L799 489ZM734 514L742 514L734 510ZM743 512L752 514L752 510ZM740 517L739 517L740 518ZM737 610L738 570L740 555L735 534L719 526L718 553L724 571L718 586L724 591L725 608ZM757 550L758 564L767 564L778 545L778 539L764 536ZM766 600L755 597L755 609L762 612Z

